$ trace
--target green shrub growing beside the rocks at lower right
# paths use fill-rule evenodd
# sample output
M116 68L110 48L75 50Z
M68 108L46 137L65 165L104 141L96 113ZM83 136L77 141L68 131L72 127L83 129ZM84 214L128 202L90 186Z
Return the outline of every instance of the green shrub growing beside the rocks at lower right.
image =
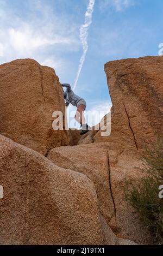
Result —
M158 146L146 149L142 156L144 172L139 182L127 183L126 200L134 207L141 220L155 236L158 244L163 244L163 199L159 198L159 186L163 185L163 139L158 138Z

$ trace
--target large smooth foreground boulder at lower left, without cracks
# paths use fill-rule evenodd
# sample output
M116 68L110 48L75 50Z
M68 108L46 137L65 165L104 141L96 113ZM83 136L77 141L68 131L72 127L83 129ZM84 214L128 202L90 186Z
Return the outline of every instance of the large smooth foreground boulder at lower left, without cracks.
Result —
M106 225L85 175L1 135L0 152L1 245L133 244Z

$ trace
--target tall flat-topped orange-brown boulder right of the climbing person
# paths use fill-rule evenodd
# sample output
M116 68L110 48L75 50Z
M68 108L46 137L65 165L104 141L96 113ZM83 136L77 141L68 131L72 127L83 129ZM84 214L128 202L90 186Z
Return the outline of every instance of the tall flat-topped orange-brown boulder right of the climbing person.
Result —
M93 134L92 141L115 141L117 148L136 150L155 143L155 134L163 134L162 64L160 56L105 64L112 100L111 136L101 136L98 132Z

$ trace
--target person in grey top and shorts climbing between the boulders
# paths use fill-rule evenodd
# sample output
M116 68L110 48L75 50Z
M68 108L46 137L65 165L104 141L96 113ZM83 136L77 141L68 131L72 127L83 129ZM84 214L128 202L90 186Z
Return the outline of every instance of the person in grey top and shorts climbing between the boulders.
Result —
M66 91L64 92L65 105L68 107L68 105L71 103L73 106L77 107L77 112L74 118L78 123L80 123L80 134L82 135L89 132L90 127L87 125L84 117L84 111L86 109L85 100L74 94L69 84L61 85L62 87L66 87Z

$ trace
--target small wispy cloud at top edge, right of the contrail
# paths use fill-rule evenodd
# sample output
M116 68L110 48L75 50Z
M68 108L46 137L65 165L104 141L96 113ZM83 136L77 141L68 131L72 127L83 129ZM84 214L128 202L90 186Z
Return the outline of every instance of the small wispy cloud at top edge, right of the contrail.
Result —
M105 9L106 7L114 8L116 11L122 11L135 4L135 0L99 0L99 8Z

